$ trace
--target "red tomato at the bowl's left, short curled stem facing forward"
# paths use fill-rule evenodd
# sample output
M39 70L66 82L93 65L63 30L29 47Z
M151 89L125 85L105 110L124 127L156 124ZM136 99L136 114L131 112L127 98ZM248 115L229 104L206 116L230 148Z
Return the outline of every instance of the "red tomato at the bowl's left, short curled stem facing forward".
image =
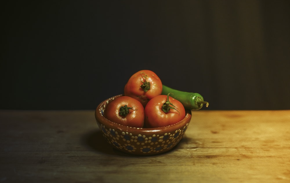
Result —
M107 104L104 117L120 125L141 128L144 126L144 107L132 97L119 96Z

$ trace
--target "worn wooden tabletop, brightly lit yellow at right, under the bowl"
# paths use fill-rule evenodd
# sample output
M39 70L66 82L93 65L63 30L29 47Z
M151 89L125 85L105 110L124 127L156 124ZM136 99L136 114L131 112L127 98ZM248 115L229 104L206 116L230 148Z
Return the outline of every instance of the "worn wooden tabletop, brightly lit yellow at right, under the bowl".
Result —
M131 156L93 110L0 110L0 182L290 182L290 110L192 114L172 151Z

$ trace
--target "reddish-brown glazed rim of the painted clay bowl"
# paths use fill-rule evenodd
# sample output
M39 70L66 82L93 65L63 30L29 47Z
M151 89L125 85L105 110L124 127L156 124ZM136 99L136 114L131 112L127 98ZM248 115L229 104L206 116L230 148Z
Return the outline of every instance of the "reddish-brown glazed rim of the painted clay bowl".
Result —
M138 128L138 127L129 127L129 126L125 126L125 125L121 125L121 124L118 124L118 123L115 123L113 121L110 121L108 120L107 118L105 118L103 115L102 115L102 109L101 107L104 105L104 104L108 104L108 101L109 100L113 100L119 96L124 96L123 94L119 94L119 95L115 95L115 96L112 96L110 98L107 98L105 100L103 100L101 103L99 103L99 105L97 106L96 110L95 110L95 118L97 120L98 123L102 124L102 125L105 125L107 127L111 127L112 129L118 129L118 130L121 130L121 131L126 131L126 132L132 132L132 133L148 133L148 132L159 132L159 131L171 131L171 130L174 130L174 129L178 129L180 127L183 127L185 126L187 123L189 123L191 121L191 110L189 109L185 109L185 117L180 121L180 122L177 122L173 125L168 125L168 126L164 126L164 127L156 127L156 128Z

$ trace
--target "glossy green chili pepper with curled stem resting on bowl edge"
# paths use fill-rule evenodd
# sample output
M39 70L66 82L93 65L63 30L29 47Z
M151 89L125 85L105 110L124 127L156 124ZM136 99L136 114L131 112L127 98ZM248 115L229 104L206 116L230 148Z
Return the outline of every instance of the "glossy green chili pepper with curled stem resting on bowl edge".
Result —
M179 100L185 109L199 110L205 104L209 106L208 102L203 100L203 97L198 93L182 92L176 89L172 89L168 86L162 85L162 95L170 94L172 98Z

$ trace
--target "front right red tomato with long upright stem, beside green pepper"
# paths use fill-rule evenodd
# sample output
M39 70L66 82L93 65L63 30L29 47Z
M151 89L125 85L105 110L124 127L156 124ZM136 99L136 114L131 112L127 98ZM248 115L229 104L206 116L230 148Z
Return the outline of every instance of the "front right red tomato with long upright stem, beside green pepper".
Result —
M168 112L162 106L168 103ZM173 125L185 117L185 109L179 100L171 96L158 95L147 103L145 107L145 127L155 128Z

